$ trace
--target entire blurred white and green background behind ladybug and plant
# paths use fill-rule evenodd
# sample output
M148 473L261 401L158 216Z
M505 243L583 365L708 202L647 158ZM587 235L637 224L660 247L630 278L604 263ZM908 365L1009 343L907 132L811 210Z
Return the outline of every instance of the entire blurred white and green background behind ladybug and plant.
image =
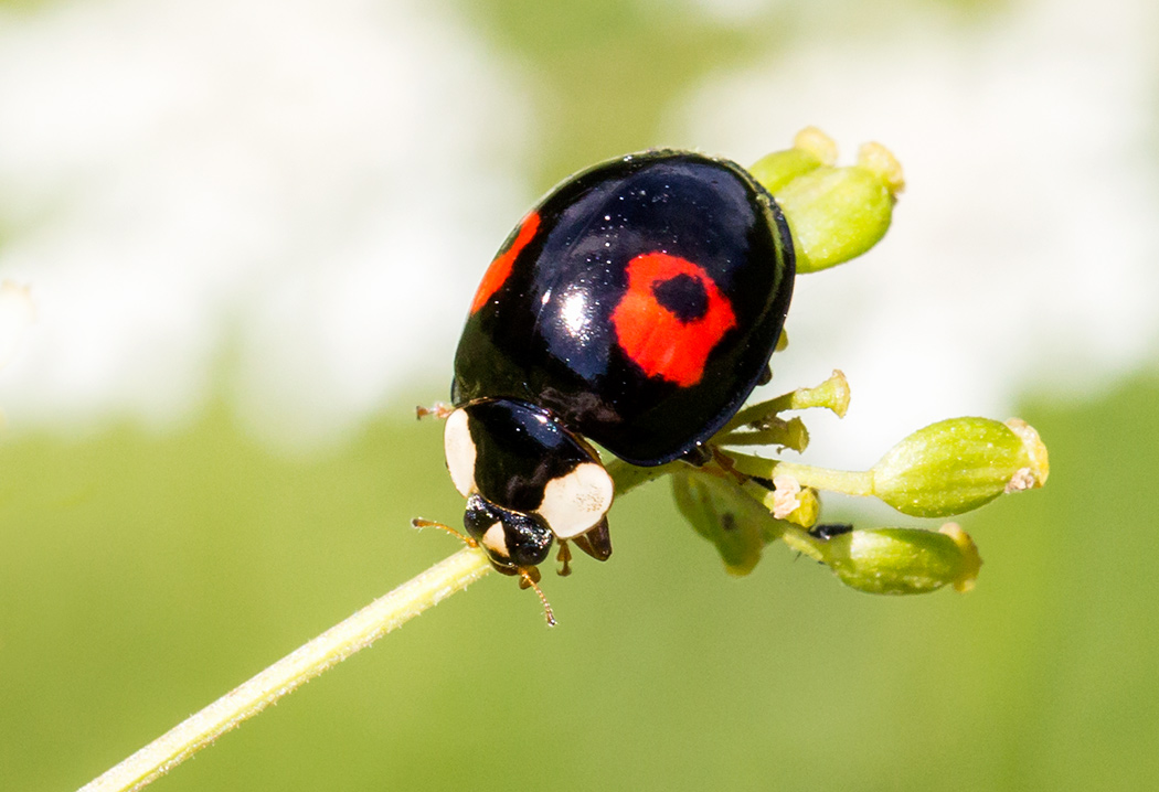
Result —
M557 629L493 575L154 789L1159 786L1157 35L1152 0L0 1L35 303L0 328L0 790L80 786L457 549L408 528L461 509L413 406L553 183L807 124L909 188L799 281L770 388L846 372L807 417L834 467L1034 424L1047 489L963 520L977 589L730 578L656 485L546 580Z

